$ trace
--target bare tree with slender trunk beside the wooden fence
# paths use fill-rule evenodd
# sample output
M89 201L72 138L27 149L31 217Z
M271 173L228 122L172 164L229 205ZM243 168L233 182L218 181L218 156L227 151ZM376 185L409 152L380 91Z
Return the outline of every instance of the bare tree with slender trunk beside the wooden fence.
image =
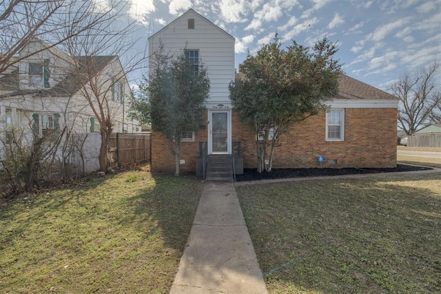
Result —
M129 102L125 92L130 92L130 87L125 87L127 74L144 67L147 60L144 52L135 52L132 39L136 30L135 22L127 22L123 2L113 1L107 6L95 8L90 18L85 18L84 23L94 22L95 25L83 30L81 34L67 32L70 38L65 39L61 45L72 57L72 66L69 74L72 81L79 88L79 94L92 109L100 125L101 149L99 164L101 171L107 171L110 162L109 141L116 120L127 120L124 113L128 110ZM108 14L108 15L107 15ZM113 18L110 18L110 14ZM97 16L103 15L107 21L96 22ZM82 27L81 23L73 26ZM74 30L74 28L72 28ZM122 117L121 117L122 115Z

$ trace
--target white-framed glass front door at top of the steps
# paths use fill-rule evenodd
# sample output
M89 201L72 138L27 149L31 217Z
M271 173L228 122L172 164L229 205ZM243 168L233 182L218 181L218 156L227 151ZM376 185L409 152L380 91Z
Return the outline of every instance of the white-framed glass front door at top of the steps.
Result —
M231 112L229 110L209 111L209 154L231 154Z

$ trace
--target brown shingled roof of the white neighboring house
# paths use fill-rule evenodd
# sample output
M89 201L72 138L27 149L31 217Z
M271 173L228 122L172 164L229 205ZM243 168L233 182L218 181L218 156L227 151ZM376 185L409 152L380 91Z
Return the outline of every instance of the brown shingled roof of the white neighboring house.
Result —
M92 72L99 74L104 68L112 62L117 56L79 56L76 57L79 70L85 67L93 66ZM88 76L81 76L81 80L78 79L76 74L71 73L66 75L57 85L48 89L35 89L35 90L24 90L20 89L19 86L19 70L14 70L10 74L4 74L0 77L0 91L6 92L6 94L1 94L1 98L8 98L13 96L22 96L28 94L34 94L34 96L49 96L49 97L68 97L72 96L80 90L82 83L88 83Z

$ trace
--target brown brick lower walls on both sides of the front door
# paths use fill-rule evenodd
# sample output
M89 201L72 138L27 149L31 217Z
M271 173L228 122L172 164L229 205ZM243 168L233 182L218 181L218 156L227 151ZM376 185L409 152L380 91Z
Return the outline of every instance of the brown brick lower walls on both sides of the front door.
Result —
M323 156L323 167L396 167L396 117L393 108L345 109L345 141L325 140L325 114L308 118L294 125L280 136L273 167L320 167L318 156ZM206 120L206 117L204 118ZM205 123L206 125L206 123ZM207 141L207 128L201 129L194 142L181 143L181 171L194 172L198 158L199 141ZM232 140L241 143L244 166L256 168L255 134L232 115ZM328 160L336 160L329 164ZM152 132L152 170L174 172L174 156L167 147L163 134Z

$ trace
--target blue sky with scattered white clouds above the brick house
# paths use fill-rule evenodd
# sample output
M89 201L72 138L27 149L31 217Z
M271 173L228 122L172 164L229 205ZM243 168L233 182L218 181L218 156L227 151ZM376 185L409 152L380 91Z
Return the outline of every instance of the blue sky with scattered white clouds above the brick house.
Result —
M382 90L441 61L441 0L127 1L147 37L193 8L236 38L236 68L276 32L285 45L338 42L345 74Z

